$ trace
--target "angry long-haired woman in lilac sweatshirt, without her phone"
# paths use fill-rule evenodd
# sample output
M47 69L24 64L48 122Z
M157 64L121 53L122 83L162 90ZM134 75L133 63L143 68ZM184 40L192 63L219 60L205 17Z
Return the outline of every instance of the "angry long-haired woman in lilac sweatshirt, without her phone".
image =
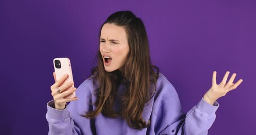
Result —
M143 22L131 11L115 12L101 26L98 65L91 76L78 91L65 91L73 85L62 84L68 75L51 86L49 134L207 134L219 106L216 100L242 82L233 83L236 74L227 82L228 74L216 84L214 71L209 91L182 113L176 90L151 65ZM77 97L64 98L74 91Z

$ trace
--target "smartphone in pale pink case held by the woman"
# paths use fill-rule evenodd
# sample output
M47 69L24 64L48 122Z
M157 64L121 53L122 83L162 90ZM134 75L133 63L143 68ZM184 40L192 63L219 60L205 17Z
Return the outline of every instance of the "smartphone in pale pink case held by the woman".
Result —
M63 77L63 75L68 74L68 78L64 81L64 83L69 83L71 81L74 81L73 75L72 75L71 63L68 58L55 58L53 59L53 64L54 64L56 80L59 80L61 77ZM69 87L68 89L72 89L72 88L74 88L74 85L73 87ZM71 93L65 98L73 98L73 97L75 97L75 92Z

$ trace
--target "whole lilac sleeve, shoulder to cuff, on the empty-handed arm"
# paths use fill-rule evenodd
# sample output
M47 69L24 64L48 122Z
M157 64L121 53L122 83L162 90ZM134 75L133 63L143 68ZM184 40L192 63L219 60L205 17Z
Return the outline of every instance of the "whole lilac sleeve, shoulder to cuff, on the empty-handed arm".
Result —
M217 102L210 105L202 98L185 114L176 90L165 77L160 77L157 91L151 115L155 134L208 134L216 117Z

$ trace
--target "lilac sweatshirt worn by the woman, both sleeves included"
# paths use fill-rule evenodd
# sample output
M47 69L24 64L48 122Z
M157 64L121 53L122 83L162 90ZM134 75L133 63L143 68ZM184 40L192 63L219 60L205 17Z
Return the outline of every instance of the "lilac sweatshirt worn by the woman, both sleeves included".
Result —
M151 120L148 128L133 129L122 118L111 119L98 114L95 119L81 115L96 107L90 105L96 101L93 91L97 88L92 79L85 80L77 89L77 101L70 102L64 110L54 109L54 101L47 104L46 119L49 123L48 134L207 134L215 120L218 103L210 105L203 99L187 114L182 113L176 90L164 77L159 75L156 94L144 107L143 119ZM118 93L125 87L120 84ZM92 96L91 96L92 95ZM116 98L114 109L120 110L120 98Z

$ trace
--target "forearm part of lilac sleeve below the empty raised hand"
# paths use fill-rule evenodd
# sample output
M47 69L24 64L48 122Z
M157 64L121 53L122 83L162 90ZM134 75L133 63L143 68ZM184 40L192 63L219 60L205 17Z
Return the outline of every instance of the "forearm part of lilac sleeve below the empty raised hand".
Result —
M217 102L212 106L202 99L187 114L179 109L160 134L208 134L208 129L216 118L217 108Z

